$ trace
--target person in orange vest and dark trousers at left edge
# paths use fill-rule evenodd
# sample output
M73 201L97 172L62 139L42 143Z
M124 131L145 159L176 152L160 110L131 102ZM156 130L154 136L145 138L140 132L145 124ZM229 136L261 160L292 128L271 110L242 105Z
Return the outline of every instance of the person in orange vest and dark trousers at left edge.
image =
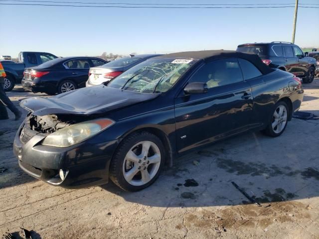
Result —
M0 62L0 120L9 119L5 106L9 108L9 110L15 115L14 120L18 120L21 118L22 113L13 105L13 103L10 101L10 99L7 97L7 95L4 92L5 77L6 77L6 74Z

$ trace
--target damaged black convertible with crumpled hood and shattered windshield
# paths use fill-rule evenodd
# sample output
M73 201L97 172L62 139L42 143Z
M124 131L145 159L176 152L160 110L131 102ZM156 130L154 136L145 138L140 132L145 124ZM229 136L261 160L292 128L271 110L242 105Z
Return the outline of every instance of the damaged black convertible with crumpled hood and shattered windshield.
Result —
M109 83L21 101L30 113L13 149L26 173L51 185L88 187L110 178L138 191L165 163L199 146L246 130L281 135L303 95L298 77L255 54L167 54Z

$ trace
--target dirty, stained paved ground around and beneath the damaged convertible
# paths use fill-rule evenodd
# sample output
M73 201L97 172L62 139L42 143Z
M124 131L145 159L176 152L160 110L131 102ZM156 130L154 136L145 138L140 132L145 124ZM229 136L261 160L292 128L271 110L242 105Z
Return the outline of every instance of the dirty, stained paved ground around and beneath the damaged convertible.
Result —
M319 115L319 79L304 89L301 111ZM35 95L46 96L8 93L16 105ZM111 183L67 190L23 173L12 153L20 121L0 121L0 235L23 227L32 239L319 238L319 120L293 119L278 138L248 132L189 153L137 193Z

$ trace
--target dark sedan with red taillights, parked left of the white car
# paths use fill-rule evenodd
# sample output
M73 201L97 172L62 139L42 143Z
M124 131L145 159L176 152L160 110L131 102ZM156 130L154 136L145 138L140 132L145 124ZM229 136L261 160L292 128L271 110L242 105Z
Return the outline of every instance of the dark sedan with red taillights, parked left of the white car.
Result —
M97 57L62 57L36 67L25 68L21 81L26 91L61 94L85 87L90 67L107 61Z

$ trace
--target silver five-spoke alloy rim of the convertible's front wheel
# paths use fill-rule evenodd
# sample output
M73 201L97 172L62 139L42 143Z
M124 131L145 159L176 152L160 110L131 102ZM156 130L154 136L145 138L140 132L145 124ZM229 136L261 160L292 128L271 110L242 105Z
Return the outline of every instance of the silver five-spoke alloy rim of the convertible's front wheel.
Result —
M133 186L147 184L159 171L160 160L160 148L152 141L141 141L127 152L123 176Z

